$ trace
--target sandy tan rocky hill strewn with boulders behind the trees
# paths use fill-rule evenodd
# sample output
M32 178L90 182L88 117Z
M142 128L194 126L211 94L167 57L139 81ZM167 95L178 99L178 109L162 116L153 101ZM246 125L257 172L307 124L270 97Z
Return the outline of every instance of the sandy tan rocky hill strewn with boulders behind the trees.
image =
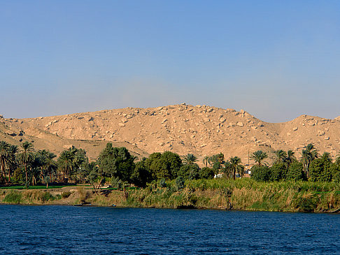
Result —
M290 122L262 122L248 112L207 105L124 108L31 119L0 119L0 140L34 142L59 153L75 145L94 159L110 141L136 156L172 151L199 157L224 153L248 163L255 150L295 150L314 143L320 152L340 150L340 118L302 115ZM251 162L250 162L251 163Z

